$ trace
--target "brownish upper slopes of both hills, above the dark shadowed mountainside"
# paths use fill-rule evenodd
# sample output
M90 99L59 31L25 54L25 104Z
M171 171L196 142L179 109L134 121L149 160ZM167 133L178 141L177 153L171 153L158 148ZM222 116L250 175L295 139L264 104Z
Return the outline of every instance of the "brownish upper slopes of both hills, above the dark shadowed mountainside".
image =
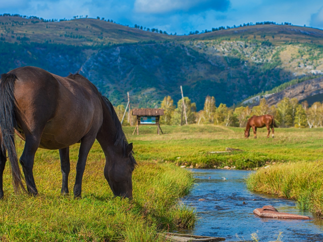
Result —
M50 42L72 45L134 43L143 41L214 40L221 38L323 43L323 30L290 25L253 25L197 35L168 35L130 28L98 19L82 18L44 22L21 17L0 17L0 34L6 42ZM147 26L153 27L153 26ZM18 38L18 39L17 39Z

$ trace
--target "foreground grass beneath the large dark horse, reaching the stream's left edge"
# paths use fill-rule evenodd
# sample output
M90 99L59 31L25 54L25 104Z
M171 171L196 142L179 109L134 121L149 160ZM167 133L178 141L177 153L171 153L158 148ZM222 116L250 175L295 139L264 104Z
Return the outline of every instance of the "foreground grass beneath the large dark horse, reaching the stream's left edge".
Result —
M18 142L21 153L24 143ZM71 147L69 188L75 180L79 145ZM103 176L104 158L95 143L83 176L82 199L61 196L58 151L39 149L34 176L39 196L16 196L9 166L0 201L0 241L164 241L161 229L190 227L191 208L178 204L192 187L191 174L173 164L139 162L133 173L134 199L114 198Z

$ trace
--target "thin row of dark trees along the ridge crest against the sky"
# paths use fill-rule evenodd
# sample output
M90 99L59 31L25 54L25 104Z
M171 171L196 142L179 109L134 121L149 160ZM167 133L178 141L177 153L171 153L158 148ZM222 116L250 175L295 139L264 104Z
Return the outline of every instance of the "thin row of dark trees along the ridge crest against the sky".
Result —
M26 16L26 15L20 15L20 14L0 14L0 16L9 16L9 17L21 17L21 18L26 18L26 19L36 19L36 20L40 20L42 22L62 22L62 21L69 21L69 20L72 20L72 19L43 19L43 18L39 18L39 17L36 17L36 16ZM85 16L85 18L87 18L88 15ZM77 19L77 18L83 18L83 15L77 15L77 16L74 16L73 19ZM112 19L104 19L104 18L100 18L100 17L96 17L96 19L98 20L102 20L102 21L106 21L106 22L111 22L111 23L115 23L115 21L113 21ZM271 22L271 21L264 21L264 22L256 22L255 24L253 23L244 23L244 24L240 24L238 26L236 25L233 25L232 27L230 26L227 26L227 27L224 27L224 26L220 26L218 28L211 28L211 30L202 30L201 32L198 31L198 30L195 30L195 31L190 31L188 33L188 35L192 35L192 34L203 34L203 33L209 33L209 32L214 32L214 31L219 31L219 30L224 30L224 29L233 29L233 28L240 28L240 27L245 27L245 26L252 26L252 25L266 25L266 24L274 24L274 25L280 25L276 22ZM291 23L288 23L288 22L285 22L285 23L281 23L281 25L292 25ZM127 27L131 27L129 25L125 25ZM168 34L166 31L163 31L163 30L158 30L157 28L147 28L147 27L143 27L142 25L138 25L138 24L135 24L133 28L136 28L136 29L140 29L140 30L143 30L143 31L149 31L149 32L154 32L154 33L159 33L159 34ZM171 33L171 35L173 35L173 33ZM174 35L177 35L177 33L175 33ZM186 34L184 34L186 35Z

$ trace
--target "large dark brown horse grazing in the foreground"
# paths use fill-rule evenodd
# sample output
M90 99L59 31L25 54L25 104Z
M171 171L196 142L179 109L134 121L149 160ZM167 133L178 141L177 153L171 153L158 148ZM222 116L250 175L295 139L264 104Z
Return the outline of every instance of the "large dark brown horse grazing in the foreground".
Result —
M36 67L21 67L0 80L0 199L4 196L3 172L8 151L13 186L25 188L15 148L15 133L25 141L20 157L27 192L36 196L33 176L38 147L59 149L62 194L68 194L69 146L81 143L76 165L74 196L81 197L82 177L88 153L95 141L104 155L104 177L115 196L132 197L132 172L136 161L111 102L85 77L60 77Z

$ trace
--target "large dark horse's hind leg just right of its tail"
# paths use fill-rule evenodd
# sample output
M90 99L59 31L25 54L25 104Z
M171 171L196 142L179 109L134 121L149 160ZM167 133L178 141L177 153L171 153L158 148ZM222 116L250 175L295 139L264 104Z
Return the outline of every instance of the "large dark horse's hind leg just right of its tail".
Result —
M41 136L26 135L25 148L20 157L20 164L26 179L27 191L33 196L38 194L32 169L34 166L35 153L40 143L40 137Z

